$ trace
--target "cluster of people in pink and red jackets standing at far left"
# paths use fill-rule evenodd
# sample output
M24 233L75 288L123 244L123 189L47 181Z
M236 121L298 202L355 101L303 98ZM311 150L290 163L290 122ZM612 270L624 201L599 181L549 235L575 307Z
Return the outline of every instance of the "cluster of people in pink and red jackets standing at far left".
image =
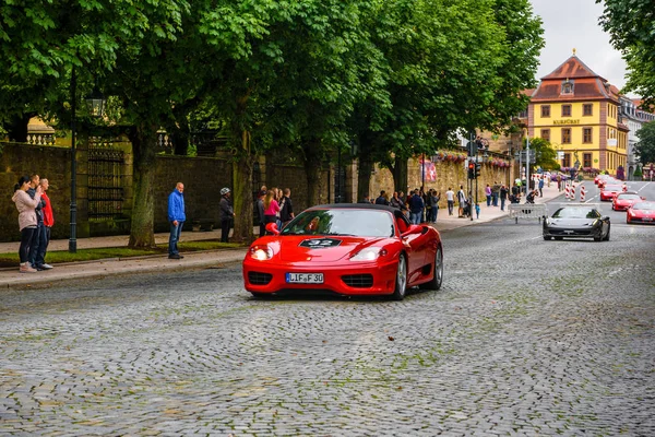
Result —
M52 269L46 262L46 252L50 243L50 231L55 224L52 204L48 198L48 179L34 174L22 176L14 186L11 200L19 210L19 229L21 246L19 248L21 273L35 273Z

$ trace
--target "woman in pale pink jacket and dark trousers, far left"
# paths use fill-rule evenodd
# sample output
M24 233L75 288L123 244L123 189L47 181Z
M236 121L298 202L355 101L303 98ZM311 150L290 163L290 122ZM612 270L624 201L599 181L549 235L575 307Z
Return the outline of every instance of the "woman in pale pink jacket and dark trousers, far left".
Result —
M21 248L19 249L19 257L21 258L21 273L34 273L34 269L28 259L29 243L36 232L36 211L35 208L40 202L41 187L36 188L36 194L34 199L27 194L29 188L29 178L22 176L19 179L19 184L14 187L14 194L11 200L16 204L19 210L19 228L21 229Z

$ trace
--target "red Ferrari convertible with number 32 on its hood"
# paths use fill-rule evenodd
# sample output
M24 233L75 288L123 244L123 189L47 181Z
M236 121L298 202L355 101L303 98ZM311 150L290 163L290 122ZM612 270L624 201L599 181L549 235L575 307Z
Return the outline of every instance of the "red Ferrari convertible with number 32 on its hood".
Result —
M243 259L245 287L255 297L313 290L401 300L408 287L441 287L439 232L410 225L390 206L319 205L282 231L266 229L273 235L257 239Z

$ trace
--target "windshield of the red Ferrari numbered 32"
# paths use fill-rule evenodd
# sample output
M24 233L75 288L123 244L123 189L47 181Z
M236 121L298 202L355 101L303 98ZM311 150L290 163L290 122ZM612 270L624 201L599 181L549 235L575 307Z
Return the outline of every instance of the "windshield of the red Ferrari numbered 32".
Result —
M310 210L294 218L281 235L391 237L394 235L393 216L381 210Z

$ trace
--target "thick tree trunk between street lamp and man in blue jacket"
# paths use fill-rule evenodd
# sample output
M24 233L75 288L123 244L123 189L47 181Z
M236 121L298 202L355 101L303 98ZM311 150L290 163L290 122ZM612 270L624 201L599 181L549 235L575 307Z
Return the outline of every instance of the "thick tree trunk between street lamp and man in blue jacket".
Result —
M155 246L154 182L157 126L140 125L130 132L129 137L134 154L134 179L132 185L134 205L132 208L130 243L128 246L135 249L152 248Z

